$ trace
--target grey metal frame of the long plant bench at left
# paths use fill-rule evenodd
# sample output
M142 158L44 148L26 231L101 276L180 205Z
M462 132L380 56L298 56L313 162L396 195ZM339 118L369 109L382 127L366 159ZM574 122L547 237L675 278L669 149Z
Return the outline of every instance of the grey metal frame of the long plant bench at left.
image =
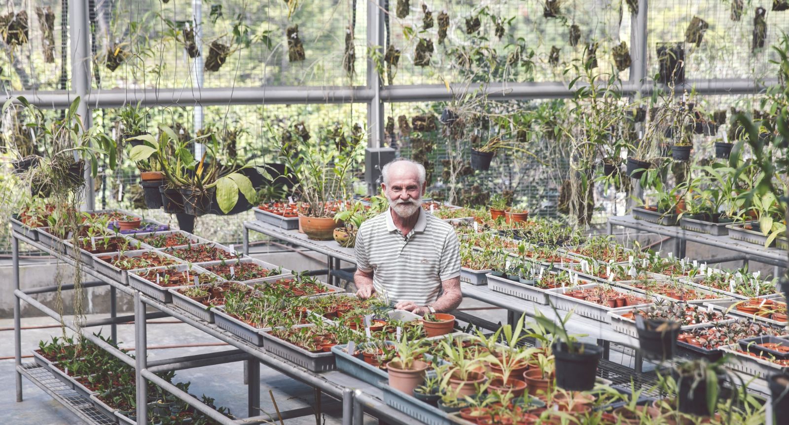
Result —
M26 244L30 244L34 248L38 248L43 252L47 252L50 255L55 256L58 258L59 261L63 263L69 264L74 266L73 259L62 255L61 252L57 252L39 242L36 242L28 237L24 237L20 233L13 232L12 233L12 248L13 248L13 283L14 283L14 355L16 360L16 386L17 386L17 401L22 401L22 377L28 378L31 382L34 382L36 386L41 387L45 392L50 394L50 396L54 397L55 400L60 401L64 404L70 411L74 412L75 415L80 417L80 419L84 420L86 423L107 423L100 414L97 415L97 411L95 408L92 408L92 404L90 401L77 400L73 399L69 394L60 393L58 392L56 387L50 385L50 378L47 377L45 374L49 373L43 368L37 368L36 365L23 365L21 363L21 301L30 304L32 307L37 308L39 311L42 311L44 314L49 315L50 317L62 320L65 326L69 327L69 329L74 330L75 332L78 330L78 326L73 322L72 319L61 317L57 312L53 311L47 306L41 304L39 301L32 298L31 294L34 293L47 293L47 292L54 292L57 290L57 286L48 286L46 288L36 288L36 289L26 289L23 290L20 288L20 279L19 279L19 242L22 241ZM200 412L203 412L205 415L211 417L211 419L215 419L217 422L222 423L223 425L236 425L238 423L263 423L264 421L270 420L270 416L264 415L259 416L259 407L260 407L260 364L263 363L267 367L271 367L275 371L279 371L280 373L290 376L291 378L297 379L298 381L304 382L309 386L312 386L316 389L316 408L314 410L305 409L305 408L297 408L292 411L281 412L283 418L294 418L298 416L316 416L316 423L320 423L320 397L322 393L327 393L327 395L336 398L337 400L342 402L342 423L343 425L362 425L363 424L363 415L365 412L369 412L375 414L377 417L385 418L387 422L391 423L401 423L403 425L408 425L409 423L413 422L409 416L402 414L402 412L396 411L394 408L388 407L386 404L383 403L383 394L380 390L376 389L373 386L365 382L361 382L357 378L353 378L352 376L345 375L340 371L329 371L323 373L313 373L307 371L301 367L297 367L292 363L287 362L286 360L281 360L275 356L271 356L266 352L262 351L260 347L256 347L254 345L250 345L248 342L241 340L238 337L235 337L233 334L226 332L225 330L221 330L215 324L211 324L208 322L204 322L201 319L197 319L193 315L190 315L186 311L182 311L179 308L174 307L171 304L164 304L159 302L158 300L153 300L145 296L143 293L136 291L134 289L129 288L126 285L122 285L118 281L114 281L113 279L107 278L103 274L99 274L95 270L92 270L88 267L82 267L81 270L84 274L88 274L92 278L96 278L97 282L91 282L89 285L91 286L99 286L99 285L110 285L110 289L112 289L111 298L113 301L110 302L110 318L108 319L96 319L85 322L82 324L81 327L87 328L91 326L101 326L110 324L112 327L112 337L111 341L116 341L116 332L115 328L118 323L122 322L129 322L133 319L134 327L135 327L135 357L132 358L131 356L125 354L120 349L116 349L114 346L108 344L107 342L101 340L99 337L95 337L93 334L89 332L84 332L83 335L88 341L92 341L96 345L99 345L102 349L110 352L113 356L117 357L119 360L122 360L130 367L134 367L136 373L136 400L147 400L148 394L147 386L145 384L146 380L155 383L158 386L161 386L164 390L173 393L175 397L178 397L182 401L193 406ZM68 288L69 285L63 285L63 287ZM73 289L73 286L71 286ZM122 293L125 293L129 296L133 296L134 298L134 315L133 316L118 316L117 311L115 311L115 306L117 305L114 302L115 296L117 296L117 290L120 290ZM147 312L154 309L154 312ZM225 341L229 345L232 345L234 349L220 351L220 352L208 352L203 354L197 354L194 356L184 356L184 357L175 357L170 359L163 359L163 360L154 360L148 361L147 356L147 323L148 319L155 319L161 317L173 317L175 319L181 320L181 322L188 323L190 326L193 326L196 330L204 332L205 334L211 335L212 337L218 338L220 341ZM197 400L195 397L192 397L188 393L185 393L178 389L178 387L174 386L170 382L166 382L163 378L159 378L157 373L165 372L165 371L178 371L183 369L188 369L191 367L204 367L213 364L221 364L221 363L231 363L231 362L239 362L239 361L246 361L248 366L245 368L246 380L249 382L249 392L248 392L248 414L249 417L243 419L232 419L226 416L223 416L219 412L216 412L214 408L204 404L202 401ZM51 376L51 375L50 375ZM53 377L54 379L54 377ZM58 381L59 382L59 381ZM87 404L86 404L87 403ZM80 407L81 406L81 407ZM87 410L86 410L87 409ZM147 403L137 403L137 417L144 418L147 416ZM114 421L112 422L114 423Z

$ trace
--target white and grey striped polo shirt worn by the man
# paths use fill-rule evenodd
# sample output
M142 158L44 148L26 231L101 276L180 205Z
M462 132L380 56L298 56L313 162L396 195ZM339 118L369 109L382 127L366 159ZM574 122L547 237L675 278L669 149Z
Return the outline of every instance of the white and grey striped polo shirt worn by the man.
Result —
M378 296L389 302L427 305L438 300L441 281L460 275L460 243L452 226L419 208L406 236L394 226L391 208L364 222L356 237L357 269L372 271Z

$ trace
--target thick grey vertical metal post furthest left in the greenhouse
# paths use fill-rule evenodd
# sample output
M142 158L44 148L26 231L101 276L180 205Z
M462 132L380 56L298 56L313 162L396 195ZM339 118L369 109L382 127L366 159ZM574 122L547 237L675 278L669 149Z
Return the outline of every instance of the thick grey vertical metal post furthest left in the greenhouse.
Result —
M85 129L91 126L91 111L88 108L88 91L91 87L90 31L88 28L88 2L72 0L69 2L70 43L73 51L71 58L71 85L74 94L80 96L77 114L82 118ZM95 188L90 167L85 167L85 208L95 210Z

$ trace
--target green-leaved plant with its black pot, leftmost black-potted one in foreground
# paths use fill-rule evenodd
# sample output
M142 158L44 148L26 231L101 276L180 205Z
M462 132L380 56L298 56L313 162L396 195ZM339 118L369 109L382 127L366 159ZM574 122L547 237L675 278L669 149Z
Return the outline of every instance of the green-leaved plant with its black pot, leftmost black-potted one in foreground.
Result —
M599 345L580 342L574 335L567 333L565 323L570 320L572 311L568 312L563 319L555 308L554 311L556 317L559 318L558 325L544 315L537 315L534 319L544 329L556 335L556 340L551 346L556 364L556 386L568 391L592 390L597 373L597 363L600 361L603 348Z

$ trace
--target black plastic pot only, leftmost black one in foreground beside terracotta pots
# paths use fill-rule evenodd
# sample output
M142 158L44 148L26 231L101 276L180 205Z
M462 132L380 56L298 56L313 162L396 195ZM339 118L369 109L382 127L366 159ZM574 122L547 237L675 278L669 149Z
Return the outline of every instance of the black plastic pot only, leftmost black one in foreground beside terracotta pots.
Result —
M568 391L592 390L597 375L597 363L603 347L578 342L578 349L583 352L568 352L564 342L552 345L556 361L556 386Z

